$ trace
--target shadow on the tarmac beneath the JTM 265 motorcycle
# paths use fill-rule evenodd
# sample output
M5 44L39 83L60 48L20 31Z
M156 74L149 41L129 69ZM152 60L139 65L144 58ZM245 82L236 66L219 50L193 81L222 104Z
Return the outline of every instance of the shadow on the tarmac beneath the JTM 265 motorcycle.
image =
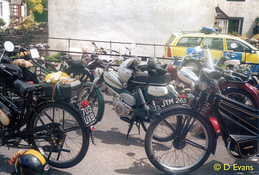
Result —
M144 147L144 139L133 137L134 134L129 134L126 139L126 134L118 131L118 128L110 128L110 130L94 130L94 137L100 139L105 144L121 144L125 146L135 145Z

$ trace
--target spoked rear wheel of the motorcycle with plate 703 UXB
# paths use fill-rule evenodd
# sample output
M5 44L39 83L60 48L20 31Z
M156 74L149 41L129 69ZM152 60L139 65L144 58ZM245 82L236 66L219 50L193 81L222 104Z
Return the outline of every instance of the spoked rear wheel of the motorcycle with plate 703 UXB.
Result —
M54 108L53 108L54 106ZM45 124L57 122L60 125L50 131L54 133L67 131L61 134L49 135L47 131L34 133L34 139L29 142L35 150L38 150L45 158L48 157L51 146L53 151L49 158L49 165L57 168L69 168L79 163L85 156L89 147L89 135L83 126L80 114L73 107L62 102L47 102L40 105L36 112ZM40 126L42 123L34 113L29 121L29 128ZM46 138L38 138L46 136Z

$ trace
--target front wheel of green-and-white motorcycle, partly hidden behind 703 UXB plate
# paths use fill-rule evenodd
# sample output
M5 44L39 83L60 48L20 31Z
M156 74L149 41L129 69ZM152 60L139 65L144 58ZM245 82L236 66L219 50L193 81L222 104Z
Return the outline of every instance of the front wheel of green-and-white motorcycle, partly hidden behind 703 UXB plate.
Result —
M80 93L78 95L78 99L77 100L81 100L81 99L87 99L89 92L91 89L91 84L84 84L81 88L80 88ZM102 94L101 94L102 95ZM97 95L95 89L93 90L90 99L88 100L89 105L92 107L93 113L96 117L96 121L93 123L96 124L98 121L101 120L102 115L103 115L103 110L104 110L104 106L101 107L99 102L103 101L103 96L101 95ZM102 99L101 99L102 97Z

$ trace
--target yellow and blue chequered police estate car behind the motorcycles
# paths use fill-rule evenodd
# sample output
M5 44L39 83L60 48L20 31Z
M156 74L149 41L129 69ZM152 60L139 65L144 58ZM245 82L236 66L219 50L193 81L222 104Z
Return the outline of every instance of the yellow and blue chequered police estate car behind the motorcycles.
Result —
M231 43L236 43L236 47L231 48ZM213 59L218 58L223 50L233 50L236 56L229 56L230 59L259 63L259 50L256 47L239 37L215 31L200 30L172 33L165 44L168 46L164 48L164 58L174 57L175 55L182 57L191 52L192 54L196 54L194 50L195 46L206 49L208 45L210 55ZM195 58L186 59L182 63L182 66L200 67L199 61ZM258 65L251 66L253 74L258 74L258 70Z

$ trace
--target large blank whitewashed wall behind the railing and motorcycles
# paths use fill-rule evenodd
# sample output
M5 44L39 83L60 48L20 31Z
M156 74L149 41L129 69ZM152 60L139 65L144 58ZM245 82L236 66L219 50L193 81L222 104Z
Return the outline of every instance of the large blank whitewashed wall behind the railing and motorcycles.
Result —
M214 0L49 0L49 37L164 44L172 32L212 27L213 12ZM68 49L67 40L49 43L51 49ZM111 45L121 51L125 46ZM70 47L93 48L80 41ZM163 49L156 46L155 56ZM132 54L154 56L154 46L137 45Z

